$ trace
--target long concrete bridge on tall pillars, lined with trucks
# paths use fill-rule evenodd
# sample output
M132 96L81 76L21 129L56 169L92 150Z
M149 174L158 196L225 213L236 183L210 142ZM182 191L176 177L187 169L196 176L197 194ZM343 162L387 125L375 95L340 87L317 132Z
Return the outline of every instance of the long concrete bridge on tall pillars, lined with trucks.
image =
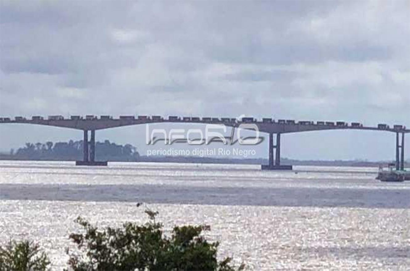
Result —
M405 126L395 124L389 126L387 124L378 124L377 127L363 126L359 122L347 123L343 121L295 121L295 120L273 120L271 118L263 118L257 120L253 117L243 117L241 119L229 117L178 117L169 116L164 118L162 116L138 116L125 115L119 118L103 115L100 117L94 115L71 116L69 119L64 119L62 115L48 116L45 119L42 116L32 116L31 119L25 117L0 117L0 124L37 124L48 125L70 129L82 130L84 133L83 140L83 160L76 161L76 165L107 165L106 161L95 160L95 132L96 130L109 129L121 126L130 126L138 124L150 123L198 123L198 124L223 124L235 129L240 124L255 124L260 132L269 133L269 164L262 165L264 170L292 170L291 165L280 164L280 137L281 134L286 133L300 133L306 131L321 131L321 130L339 130L339 129L354 129L354 130L370 130L396 133L396 161L395 166L397 170L404 169L404 135L410 130ZM90 131L90 140L88 139ZM275 139L275 140L274 140ZM276 142L274 142L276 141Z

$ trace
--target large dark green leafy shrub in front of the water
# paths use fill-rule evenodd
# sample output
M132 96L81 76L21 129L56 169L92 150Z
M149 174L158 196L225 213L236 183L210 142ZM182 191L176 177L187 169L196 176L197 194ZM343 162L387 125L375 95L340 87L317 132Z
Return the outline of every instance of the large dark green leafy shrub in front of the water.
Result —
M216 259L219 243L202 236L209 226L174 227L171 237L155 222L157 212L146 211L150 222L142 226L125 223L122 228L98 230L81 217L76 219L85 230L70 238L80 253L70 253L68 264L75 271L89 270L234 270L230 258ZM243 266L240 267L243 269Z

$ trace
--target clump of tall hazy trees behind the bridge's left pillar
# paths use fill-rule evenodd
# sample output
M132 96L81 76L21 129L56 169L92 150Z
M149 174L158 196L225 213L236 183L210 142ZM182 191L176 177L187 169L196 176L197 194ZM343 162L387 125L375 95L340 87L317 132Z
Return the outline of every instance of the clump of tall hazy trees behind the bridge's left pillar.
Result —
M29 143L14 151L11 149L10 156L16 159L29 160L82 160L83 140L68 142L48 141L46 143ZM118 145L105 140L96 142L96 159L107 161L138 161L137 148L131 144Z

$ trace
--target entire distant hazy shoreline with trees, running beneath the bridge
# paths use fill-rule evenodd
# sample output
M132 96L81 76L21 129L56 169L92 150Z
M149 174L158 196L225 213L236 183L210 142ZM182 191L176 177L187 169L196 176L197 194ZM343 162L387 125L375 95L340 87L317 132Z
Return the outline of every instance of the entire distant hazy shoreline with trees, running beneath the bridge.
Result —
M26 143L9 154L0 153L0 160L82 160L82 140L53 143ZM224 163L224 164L253 164L266 165L266 158L219 158L200 156L144 156L138 153L131 144L117 145L105 140L96 142L96 160L129 161L129 162L167 162L167 163ZM282 157L282 165L309 165L309 166L344 166L344 167L378 167L387 166L391 161L366 160L294 160ZM405 167L410 167L410 160L406 160Z

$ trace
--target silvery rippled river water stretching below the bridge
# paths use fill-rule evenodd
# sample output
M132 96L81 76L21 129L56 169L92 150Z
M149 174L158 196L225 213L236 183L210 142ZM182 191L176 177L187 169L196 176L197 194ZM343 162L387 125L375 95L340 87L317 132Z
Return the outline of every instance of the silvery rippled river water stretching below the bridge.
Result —
M65 266L78 215L100 226L209 224L219 256L248 269L410 269L410 182L377 169L254 165L0 161L0 242L35 239Z

